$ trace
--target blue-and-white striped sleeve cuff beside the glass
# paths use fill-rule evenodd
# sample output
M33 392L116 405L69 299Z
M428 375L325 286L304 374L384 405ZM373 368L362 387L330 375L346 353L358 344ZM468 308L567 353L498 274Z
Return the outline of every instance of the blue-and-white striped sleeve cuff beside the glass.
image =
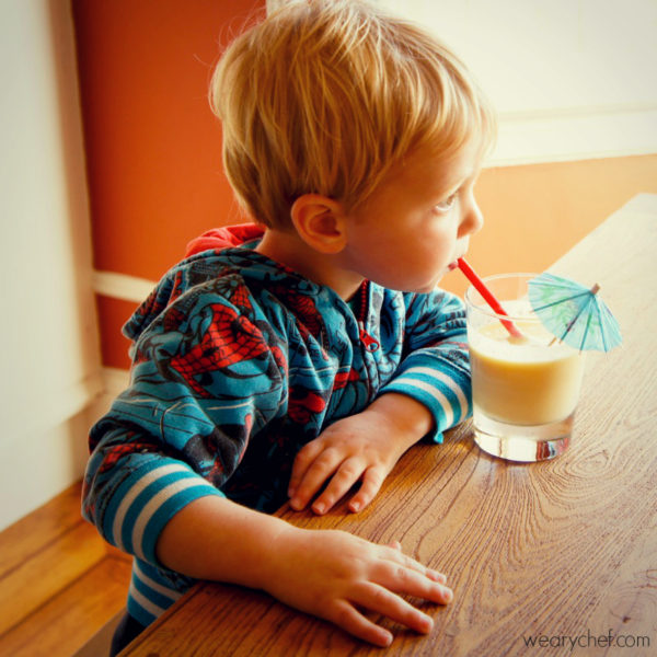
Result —
M435 429L425 440L442 442L442 431L470 415L471 385L468 376L449 376L431 367L410 367L381 389L399 392L424 404L435 419Z

